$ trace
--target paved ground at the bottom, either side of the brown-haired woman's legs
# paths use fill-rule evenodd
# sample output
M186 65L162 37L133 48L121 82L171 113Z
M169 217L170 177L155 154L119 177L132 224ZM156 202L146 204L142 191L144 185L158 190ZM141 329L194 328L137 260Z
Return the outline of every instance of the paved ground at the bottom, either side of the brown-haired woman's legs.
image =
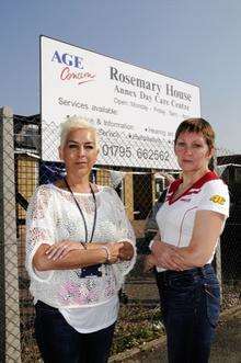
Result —
M119 363L167 363L164 339L148 343L146 350L134 350L111 362ZM222 314L213 345L210 363L241 363L241 306Z

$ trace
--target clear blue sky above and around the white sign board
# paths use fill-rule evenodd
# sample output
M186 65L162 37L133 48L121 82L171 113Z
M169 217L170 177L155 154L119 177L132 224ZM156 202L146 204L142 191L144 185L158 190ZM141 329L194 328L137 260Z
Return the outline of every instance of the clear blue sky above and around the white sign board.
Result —
M39 35L200 88L217 146L241 154L240 0L1 0L0 106L39 113Z

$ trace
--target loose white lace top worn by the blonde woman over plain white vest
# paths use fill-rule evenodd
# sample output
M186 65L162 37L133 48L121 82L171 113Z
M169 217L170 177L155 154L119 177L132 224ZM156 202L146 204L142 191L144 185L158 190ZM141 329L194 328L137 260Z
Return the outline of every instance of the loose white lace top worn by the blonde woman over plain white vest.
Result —
M94 219L93 195L74 193L91 235ZM97 216L94 242L128 240L135 246L135 236L117 193L108 186L99 186L95 193ZM26 269L31 276L31 293L35 302L57 308L97 306L117 295L124 276L131 270L135 258L115 264L101 264L97 275L82 276L82 270L35 271L33 257L42 243L53 245L64 239L84 241L84 225L70 192L54 184L37 188L26 218Z

